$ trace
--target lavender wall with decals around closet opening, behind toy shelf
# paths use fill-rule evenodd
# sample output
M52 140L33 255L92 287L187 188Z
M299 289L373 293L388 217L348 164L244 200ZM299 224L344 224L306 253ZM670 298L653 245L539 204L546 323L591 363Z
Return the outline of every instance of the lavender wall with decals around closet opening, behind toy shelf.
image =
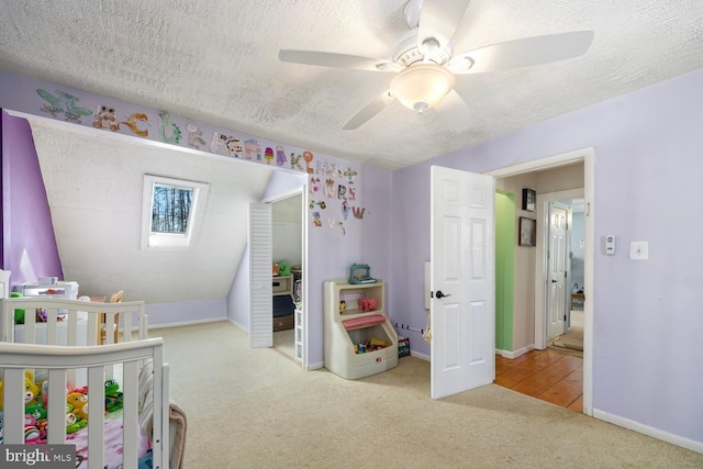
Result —
M338 199L325 199L320 192L311 194L308 177L301 178L294 172L276 171L271 176L264 200L271 200L290 194L303 186L305 205L311 200L325 200L326 209L317 205L303 212L303 223L308 231L305 258L303 260L305 284L305 310L308 314L308 362L311 368L324 365L323 350L323 283L327 279L346 277L354 263L366 263L371 266L371 275L388 279L391 272L391 171L369 165L358 165L337 158L323 157L328 164L354 168L358 175L354 187L357 188L356 200L349 200L349 206L364 208L364 219L349 214L345 220L339 211ZM315 177L319 175L315 174ZM324 180L324 178L321 176ZM322 226L313 224L312 212L322 213ZM333 219L335 224L330 226ZM344 222L345 234L336 222ZM239 261L239 268L226 299L227 316L241 327L249 327L249 272L248 250ZM388 286L389 291L393 288ZM390 297L389 297L390 298ZM393 317L392 302L388 302L388 311Z

